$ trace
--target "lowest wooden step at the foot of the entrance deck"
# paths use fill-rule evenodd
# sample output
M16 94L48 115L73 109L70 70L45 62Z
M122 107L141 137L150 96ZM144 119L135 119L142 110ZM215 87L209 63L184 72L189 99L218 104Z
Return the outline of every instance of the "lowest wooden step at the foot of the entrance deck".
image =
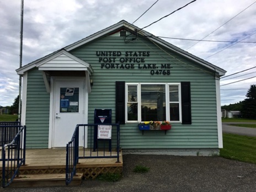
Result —
M83 174L77 173L70 185L80 185ZM33 174L19 175L10 186L63 186L66 185L66 174Z

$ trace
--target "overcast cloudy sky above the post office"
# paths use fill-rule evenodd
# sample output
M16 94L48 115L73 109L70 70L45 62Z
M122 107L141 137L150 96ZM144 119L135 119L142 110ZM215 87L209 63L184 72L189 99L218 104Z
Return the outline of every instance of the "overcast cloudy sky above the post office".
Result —
M159 0L134 25L143 28L190 1ZM23 66L120 20L133 23L154 2L156 0L24 0ZM19 0L0 1L2 106L12 105L18 95L19 76L15 70L19 68L20 4ZM168 38L202 39L210 34L204 40L247 41L200 41L194 45L198 41L164 39L223 68L229 75L256 66L255 21L254 0L198 0L144 30ZM241 77L234 78L236 76ZM236 76L223 78L227 80L222 80L221 85L254 77L256 68ZM221 104L244 100L255 80L221 86Z

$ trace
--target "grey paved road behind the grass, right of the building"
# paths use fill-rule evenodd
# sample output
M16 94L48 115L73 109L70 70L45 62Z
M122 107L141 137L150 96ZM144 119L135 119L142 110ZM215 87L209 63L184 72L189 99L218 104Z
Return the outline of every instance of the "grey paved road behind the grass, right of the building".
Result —
M229 134L238 134L238 135L247 135L256 137L256 129L248 128L248 127L237 127L232 126L232 124L237 124L237 122L223 122L222 123L222 131ZM244 123L243 124L255 124L255 123Z

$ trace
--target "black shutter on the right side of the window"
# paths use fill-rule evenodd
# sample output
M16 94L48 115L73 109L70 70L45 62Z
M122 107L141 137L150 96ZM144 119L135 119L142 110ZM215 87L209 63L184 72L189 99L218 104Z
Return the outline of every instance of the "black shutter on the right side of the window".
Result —
M182 82L182 124L191 124L190 82Z

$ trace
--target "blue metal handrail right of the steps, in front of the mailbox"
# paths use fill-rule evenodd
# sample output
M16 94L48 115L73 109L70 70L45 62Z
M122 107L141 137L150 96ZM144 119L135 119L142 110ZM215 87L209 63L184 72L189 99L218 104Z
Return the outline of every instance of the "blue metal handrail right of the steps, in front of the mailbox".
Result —
M105 142L103 141L103 146L101 146L101 150L103 150L103 156L99 155L99 147L95 147L95 128L98 127L98 125L110 125L116 127L116 155L113 155L112 153L112 145L111 140L109 140L109 147L108 150L110 152L110 155L106 155L106 147ZM83 143L83 152L82 155L79 156L79 129L82 128L83 135L86 136L88 133L88 142ZM98 141L97 137L96 140ZM83 138L83 141L86 141L85 138ZM87 146L88 144L88 146ZM97 151L95 149L97 148ZM89 150L89 154L86 153L86 149ZM76 175L76 165L78 163L78 159L85 159L85 158L117 158L117 163L120 163L120 157L119 157L119 150L120 150L120 125L119 124L79 124L76 126L76 129L74 130L73 137L70 142L67 143L67 153L66 153L66 185L70 184L72 181L73 175ZM93 154L93 152L96 152L96 155Z

